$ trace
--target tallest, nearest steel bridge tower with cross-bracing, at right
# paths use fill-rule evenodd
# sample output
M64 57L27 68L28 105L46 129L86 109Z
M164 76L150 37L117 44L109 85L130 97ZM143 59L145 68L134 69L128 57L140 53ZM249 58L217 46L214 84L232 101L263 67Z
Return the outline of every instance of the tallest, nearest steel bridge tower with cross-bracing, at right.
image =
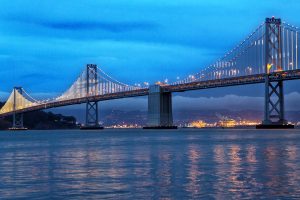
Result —
M274 72L283 69L281 19L265 21L265 107L264 120L257 128L293 128L284 116L283 81L271 81Z

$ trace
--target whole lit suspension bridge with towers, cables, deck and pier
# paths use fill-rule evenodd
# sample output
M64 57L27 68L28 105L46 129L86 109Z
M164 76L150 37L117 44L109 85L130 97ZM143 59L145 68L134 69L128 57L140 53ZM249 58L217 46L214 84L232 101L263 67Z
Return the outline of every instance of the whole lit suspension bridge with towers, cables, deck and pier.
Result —
M148 96L145 128L173 125L172 93L246 84L265 84L264 119L257 128L292 128L285 118L283 82L300 79L299 28L279 18L266 18L246 39L198 73L170 84L140 87L122 83L95 64L88 64L62 95L36 100L22 87L14 87L0 109L0 117L13 116L13 129L23 128L23 113L86 104L86 128L98 124L98 102Z

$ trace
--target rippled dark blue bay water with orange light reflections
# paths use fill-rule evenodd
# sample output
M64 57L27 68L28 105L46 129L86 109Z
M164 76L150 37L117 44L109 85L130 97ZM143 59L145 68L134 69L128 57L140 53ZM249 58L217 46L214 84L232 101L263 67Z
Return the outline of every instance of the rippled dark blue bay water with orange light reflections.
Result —
M0 132L0 199L299 199L300 130Z

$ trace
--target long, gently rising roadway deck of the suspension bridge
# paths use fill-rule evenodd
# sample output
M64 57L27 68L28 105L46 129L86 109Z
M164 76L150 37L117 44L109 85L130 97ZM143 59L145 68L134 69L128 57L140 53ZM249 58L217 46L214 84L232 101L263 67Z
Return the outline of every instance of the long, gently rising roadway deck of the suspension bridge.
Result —
M270 81L278 81L278 80L294 80L300 79L300 70L288 70L281 72L274 72L270 75ZM195 81L190 83L182 83L176 85L163 85L163 92L184 92L188 90L201 90L201 89L209 89L209 88L217 88L217 87L229 87L229 86L237 86L237 85L247 85L247 84L257 84L265 82L265 74L255 74L249 76L240 76L233 78L224 78L224 79L216 79L216 80L207 80L207 81ZM126 92L117 92L112 94L105 95L96 95L90 97L82 97L70 100L62 100L56 102L48 102L44 104L35 105L32 107L19 109L16 111L11 111L7 113L0 114L0 117L5 117L12 115L13 113L25 113L32 112L43 109L50 109L74 104L82 104L87 101L106 101L111 99L121 99L121 98L129 98L129 97L138 97L138 96L146 96L149 94L148 88L126 91Z

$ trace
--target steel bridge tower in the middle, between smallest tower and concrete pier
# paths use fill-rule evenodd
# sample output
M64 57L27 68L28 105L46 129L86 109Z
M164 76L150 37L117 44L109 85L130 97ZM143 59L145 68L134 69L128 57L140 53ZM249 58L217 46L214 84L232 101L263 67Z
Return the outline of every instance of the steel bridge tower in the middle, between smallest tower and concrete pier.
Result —
M81 129L102 129L98 123L98 102L93 100L93 97L97 95L97 65L88 64L86 66L86 115L85 126Z

